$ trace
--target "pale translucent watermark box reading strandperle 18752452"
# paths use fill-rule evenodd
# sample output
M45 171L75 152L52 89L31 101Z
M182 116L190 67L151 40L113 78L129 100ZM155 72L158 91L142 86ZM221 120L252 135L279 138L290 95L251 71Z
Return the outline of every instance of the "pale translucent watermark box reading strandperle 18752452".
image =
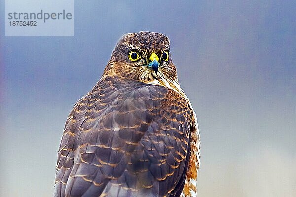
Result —
M5 0L5 36L74 36L74 0Z

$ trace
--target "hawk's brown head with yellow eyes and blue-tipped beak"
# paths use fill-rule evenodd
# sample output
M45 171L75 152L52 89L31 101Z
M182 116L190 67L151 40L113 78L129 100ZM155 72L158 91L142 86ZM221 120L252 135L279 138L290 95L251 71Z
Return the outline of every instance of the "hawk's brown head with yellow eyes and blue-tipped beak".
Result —
M170 57L170 41L155 32L125 34L113 50L104 75L118 75L141 81L177 81L176 67Z

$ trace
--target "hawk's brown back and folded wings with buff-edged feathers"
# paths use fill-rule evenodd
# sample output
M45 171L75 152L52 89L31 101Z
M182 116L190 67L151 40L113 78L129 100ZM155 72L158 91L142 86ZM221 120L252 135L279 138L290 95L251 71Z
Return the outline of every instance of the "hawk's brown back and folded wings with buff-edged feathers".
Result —
M173 90L106 77L70 113L55 197L180 195L192 110Z

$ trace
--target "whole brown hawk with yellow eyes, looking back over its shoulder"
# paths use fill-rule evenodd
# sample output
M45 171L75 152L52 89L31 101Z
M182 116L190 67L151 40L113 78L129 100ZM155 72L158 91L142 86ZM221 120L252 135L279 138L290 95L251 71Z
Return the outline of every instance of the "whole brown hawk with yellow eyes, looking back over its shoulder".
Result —
M199 163L197 118L169 38L123 35L67 118L54 196L196 197Z

